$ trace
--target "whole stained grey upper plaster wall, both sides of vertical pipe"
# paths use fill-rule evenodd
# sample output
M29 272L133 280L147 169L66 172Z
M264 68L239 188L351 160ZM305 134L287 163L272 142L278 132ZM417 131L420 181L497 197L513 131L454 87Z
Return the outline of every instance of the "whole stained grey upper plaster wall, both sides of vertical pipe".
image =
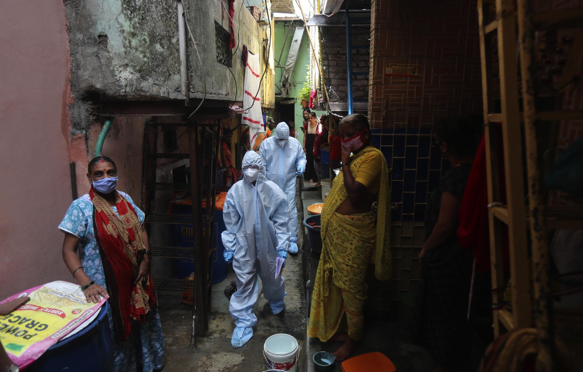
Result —
M201 58L199 60L187 34L191 98L200 98L205 92L204 70L208 99L234 99L233 76L226 66L217 62L215 46L215 21L229 31L228 9L224 10L223 18L220 0L184 2ZM264 37L251 13L241 5L241 0L234 3L235 38L240 45L236 47L231 69L237 78L238 100L243 98L243 45L259 53ZM73 95L83 99L94 96L102 99L181 98L177 2L65 0L65 6L73 58Z

